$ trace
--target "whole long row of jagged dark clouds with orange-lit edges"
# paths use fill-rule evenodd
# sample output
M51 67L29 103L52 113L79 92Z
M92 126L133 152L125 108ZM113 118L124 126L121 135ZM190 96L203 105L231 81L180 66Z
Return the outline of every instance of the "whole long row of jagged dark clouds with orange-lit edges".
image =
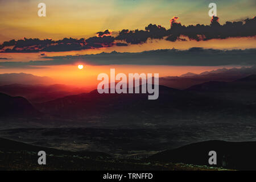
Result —
M0 44L2 52L58 52L78 51L81 49L93 49L112 46L128 46L128 44L142 44L148 39L166 39L171 42L210 39L226 39L256 36L256 18L247 18L238 22L226 22L221 25L218 17L213 16L209 25L196 24L184 26L177 22L177 17L170 20L171 26L166 28L156 24L149 24L145 30L122 30L117 36L105 30L97 32L96 36L88 39L64 38L52 39L27 39L10 40Z

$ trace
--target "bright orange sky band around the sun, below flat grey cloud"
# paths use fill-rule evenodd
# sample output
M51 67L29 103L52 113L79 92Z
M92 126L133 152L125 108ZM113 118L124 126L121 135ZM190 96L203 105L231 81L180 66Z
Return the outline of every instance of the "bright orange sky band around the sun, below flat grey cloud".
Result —
M239 66L228 66L225 68L241 68ZM76 65L55 65L45 69L6 69L5 73L24 72L36 76L48 76L53 78L49 84L65 84L86 88L95 88L100 82L97 76L106 73L110 78L110 69L115 68L115 75L118 73L159 73L159 77L180 76L187 72L201 73L224 67L192 67L192 66L166 66L166 65L86 65L86 68L77 71ZM2 71L0 70L0 73Z

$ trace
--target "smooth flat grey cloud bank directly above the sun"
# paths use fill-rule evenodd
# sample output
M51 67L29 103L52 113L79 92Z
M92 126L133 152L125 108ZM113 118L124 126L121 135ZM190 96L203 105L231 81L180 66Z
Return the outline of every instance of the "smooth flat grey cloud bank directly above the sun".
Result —
M177 49L159 49L138 53L99 53L96 55L77 56L45 56L46 59L28 62L0 62L1 68L44 68L48 65L68 65L84 63L90 65L191 65L191 66L220 66L220 65L256 65L256 49L219 50L194 47L185 51ZM34 67L36 66L36 67Z

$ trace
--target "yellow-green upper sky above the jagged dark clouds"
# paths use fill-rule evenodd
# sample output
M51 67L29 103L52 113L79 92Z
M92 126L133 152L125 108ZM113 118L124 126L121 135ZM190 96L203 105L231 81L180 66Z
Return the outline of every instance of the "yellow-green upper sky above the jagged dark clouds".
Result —
M38 4L46 4L39 17ZM215 2L220 23L255 16L255 0L0 0L0 42L11 39L84 38L106 29L170 27L173 16L183 24L209 24L208 5Z

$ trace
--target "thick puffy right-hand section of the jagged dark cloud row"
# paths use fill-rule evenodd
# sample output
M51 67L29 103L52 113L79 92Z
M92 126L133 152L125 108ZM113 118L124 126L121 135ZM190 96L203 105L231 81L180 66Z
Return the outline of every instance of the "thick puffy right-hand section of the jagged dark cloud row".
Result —
M178 17L174 16L170 20L171 28L166 30L162 26L155 24L148 25L145 30L122 30L115 38L116 40L125 40L131 44L142 44L151 39L163 39L171 42L189 40L210 40L210 39L226 39L237 37L250 37L256 35L256 18L245 19L238 22L226 22L221 25L217 16L213 16L210 20L210 25L196 24L183 26L177 22ZM187 39L185 39L187 38Z

